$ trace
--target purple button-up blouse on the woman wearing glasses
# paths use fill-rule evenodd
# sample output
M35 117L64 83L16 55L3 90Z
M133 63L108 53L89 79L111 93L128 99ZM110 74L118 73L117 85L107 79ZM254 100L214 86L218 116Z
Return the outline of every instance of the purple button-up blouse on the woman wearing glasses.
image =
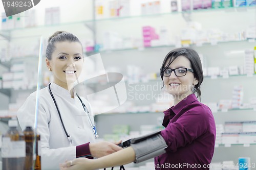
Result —
M155 158L155 169L209 169L216 127L211 110L190 94L164 111L161 135L168 147Z

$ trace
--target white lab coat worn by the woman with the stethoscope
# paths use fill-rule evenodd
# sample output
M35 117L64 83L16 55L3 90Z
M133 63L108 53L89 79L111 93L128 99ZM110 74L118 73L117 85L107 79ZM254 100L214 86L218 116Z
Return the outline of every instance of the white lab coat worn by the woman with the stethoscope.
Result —
M41 137L41 167L42 170L59 169L59 163L76 158L76 145L95 142L95 136L89 124L89 119L77 96L71 98L68 90L51 83L51 90L59 108L61 118L68 134L71 135L71 144L60 122L60 118L46 87L40 90L37 132ZM81 98L89 113L92 110L89 102ZM30 94L26 102L17 112L18 122L22 130L27 125L34 125L36 92ZM94 121L91 116L92 121Z

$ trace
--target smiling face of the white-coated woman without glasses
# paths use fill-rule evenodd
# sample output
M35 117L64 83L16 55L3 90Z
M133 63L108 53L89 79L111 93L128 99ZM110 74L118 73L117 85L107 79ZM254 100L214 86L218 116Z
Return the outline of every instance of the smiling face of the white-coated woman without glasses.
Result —
M82 46L79 42L56 42L52 59L46 59L51 68L53 82L68 90L81 74L83 65Z

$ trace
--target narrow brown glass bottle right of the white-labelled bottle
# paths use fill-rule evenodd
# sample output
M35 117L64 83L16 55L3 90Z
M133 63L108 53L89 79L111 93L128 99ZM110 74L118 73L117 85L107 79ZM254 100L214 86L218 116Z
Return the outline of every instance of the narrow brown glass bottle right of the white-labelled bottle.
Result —
M35 133L31 126L27 126L23 131L25 142L26 142L26 160L25 160L25 169L33 170L33 142Z

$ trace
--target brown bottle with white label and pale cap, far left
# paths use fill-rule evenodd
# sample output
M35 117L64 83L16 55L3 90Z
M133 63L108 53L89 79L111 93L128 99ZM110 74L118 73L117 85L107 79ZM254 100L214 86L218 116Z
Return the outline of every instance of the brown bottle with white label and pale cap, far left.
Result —
M9 130L2 138L2 162L5 170L24 169L26 144L17 130L17 120L9 120Z

